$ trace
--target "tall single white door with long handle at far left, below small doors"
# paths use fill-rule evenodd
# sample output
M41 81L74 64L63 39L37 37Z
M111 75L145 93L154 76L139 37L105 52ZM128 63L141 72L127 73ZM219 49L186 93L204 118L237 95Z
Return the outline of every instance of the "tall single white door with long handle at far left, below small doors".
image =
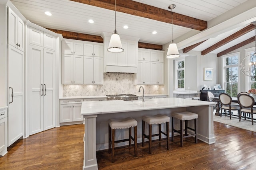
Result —
M9 45L7 68L9 147L24 134L24 52Z

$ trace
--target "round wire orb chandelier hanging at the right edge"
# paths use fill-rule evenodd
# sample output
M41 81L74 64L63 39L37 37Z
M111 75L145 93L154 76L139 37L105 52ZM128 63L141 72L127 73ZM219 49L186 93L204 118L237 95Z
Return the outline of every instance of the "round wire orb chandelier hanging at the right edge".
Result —
M256 21L254 21L254 53L244 57L240 63L240 70L244 75L256 78Z

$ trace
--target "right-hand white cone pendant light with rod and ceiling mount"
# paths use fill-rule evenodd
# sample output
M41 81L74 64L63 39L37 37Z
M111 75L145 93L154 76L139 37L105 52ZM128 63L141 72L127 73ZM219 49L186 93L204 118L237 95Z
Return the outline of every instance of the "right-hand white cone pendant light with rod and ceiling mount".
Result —
M174 9L176 7L176 5L172 4L170 5L168 8L170 10ZM174 43L173 41L173 30L172 30L172 43L170 43L168 50L167 50L167 54L166 54L166 58L168 59L174 59L180 57L177 45Z

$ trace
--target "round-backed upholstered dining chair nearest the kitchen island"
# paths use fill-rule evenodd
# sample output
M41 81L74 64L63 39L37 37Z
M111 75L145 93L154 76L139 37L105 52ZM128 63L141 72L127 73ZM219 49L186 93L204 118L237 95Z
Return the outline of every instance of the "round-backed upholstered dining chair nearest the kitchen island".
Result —
M227 115L227 110L229 111L229 117L231 119L231 110L237 110L238 115L240 115L240 107L236 105L232 105L232 98L229 94L226 93L221 93L219 95L219 100L220 100L220 117L222 115L222 109L225 110L225 116Z

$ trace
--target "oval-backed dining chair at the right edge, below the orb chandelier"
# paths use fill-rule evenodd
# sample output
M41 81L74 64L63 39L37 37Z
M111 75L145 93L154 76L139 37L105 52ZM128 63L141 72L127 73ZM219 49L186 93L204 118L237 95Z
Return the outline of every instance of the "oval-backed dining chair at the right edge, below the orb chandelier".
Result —
M249 113L252 116L252 125L253 125L253 114L256 114L256 108L254 108L254 98L248 94L238 95L238 104L240 106L239 121L241 121L241 112Z

